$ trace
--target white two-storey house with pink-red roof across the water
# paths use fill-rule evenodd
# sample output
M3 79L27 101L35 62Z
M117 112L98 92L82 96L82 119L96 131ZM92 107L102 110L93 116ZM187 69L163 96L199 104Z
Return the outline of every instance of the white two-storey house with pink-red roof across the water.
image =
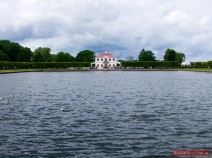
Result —
M95 58L95 62L91 63L91 67L95 67L96 69L116 69L120 66L120 62L112 55L112 53L99 54Z

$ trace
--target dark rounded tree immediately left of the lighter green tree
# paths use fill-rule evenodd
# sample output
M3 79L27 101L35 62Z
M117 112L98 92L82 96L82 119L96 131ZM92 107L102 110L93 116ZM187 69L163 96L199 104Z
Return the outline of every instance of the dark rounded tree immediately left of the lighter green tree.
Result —
M17 54L16 61L19 62L30 62L32 59L32 51L29 48L22 48Z

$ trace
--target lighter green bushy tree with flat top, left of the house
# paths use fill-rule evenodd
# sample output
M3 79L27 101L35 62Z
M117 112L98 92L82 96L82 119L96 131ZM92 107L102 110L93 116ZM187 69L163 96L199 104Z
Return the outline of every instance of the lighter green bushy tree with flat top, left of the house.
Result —
M51 61L51 49L50 48L36 48L33 53L33 61L35 62L50 62Z

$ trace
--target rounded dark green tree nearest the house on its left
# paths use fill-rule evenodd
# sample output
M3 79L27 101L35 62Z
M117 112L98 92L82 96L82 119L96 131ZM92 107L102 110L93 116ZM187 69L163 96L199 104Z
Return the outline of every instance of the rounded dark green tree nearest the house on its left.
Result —
M93 62L95 60L95 53L90 50L84 50L77 54L76 61L78 62Z

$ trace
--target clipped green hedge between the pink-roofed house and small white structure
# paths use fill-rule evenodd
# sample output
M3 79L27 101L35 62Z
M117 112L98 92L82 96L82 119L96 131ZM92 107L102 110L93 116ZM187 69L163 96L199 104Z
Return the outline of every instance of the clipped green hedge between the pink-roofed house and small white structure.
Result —
M179 63L176 61L124 61L121 66L126 67L143 67L143 68L177 68Z

